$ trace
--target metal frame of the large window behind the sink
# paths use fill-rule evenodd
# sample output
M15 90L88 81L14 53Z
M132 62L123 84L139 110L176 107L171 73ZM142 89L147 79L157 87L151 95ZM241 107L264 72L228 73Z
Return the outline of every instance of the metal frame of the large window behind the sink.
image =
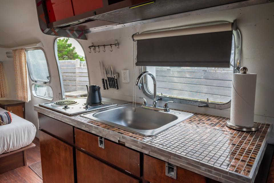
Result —
M233 37L234 37L234 69L233 73L235 73L236 67L241 67L241 33L239 29L233 30ZM140 67L140 72L144 72L146 70L146 66ZM148 98L153 98L153 93L149 91L148 89L148 77L144 76L142 80L142 86L141 89L143 93L148 97ZM163 101L173 101L174 103L180 103L180 104L188 104L188 105L195 105L195 106L202 106L204 105L205 107L209 108L217 108L217 109L226 109L230 108L231 106L231 99L226 102L226 103L217 103L217 102L206 102L206 101L201 101L201 100L192 100L192 99L182 99L178 97L168 97L168 96L159 96L158 97L162 98Z

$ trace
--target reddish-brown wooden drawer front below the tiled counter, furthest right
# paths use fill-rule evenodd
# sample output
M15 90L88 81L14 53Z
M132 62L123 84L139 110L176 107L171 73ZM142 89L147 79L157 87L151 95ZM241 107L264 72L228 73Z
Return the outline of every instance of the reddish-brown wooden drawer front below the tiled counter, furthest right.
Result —
M206 177L177 166L177 179L166 176L166 162L144 155L144 179L151 183L206 183Z

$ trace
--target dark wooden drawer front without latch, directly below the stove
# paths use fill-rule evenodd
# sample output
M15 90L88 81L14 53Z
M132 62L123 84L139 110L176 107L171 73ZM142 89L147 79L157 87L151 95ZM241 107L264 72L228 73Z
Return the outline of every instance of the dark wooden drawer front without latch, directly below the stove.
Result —
M38 113L39 128L70 145L74 145L73 126Z

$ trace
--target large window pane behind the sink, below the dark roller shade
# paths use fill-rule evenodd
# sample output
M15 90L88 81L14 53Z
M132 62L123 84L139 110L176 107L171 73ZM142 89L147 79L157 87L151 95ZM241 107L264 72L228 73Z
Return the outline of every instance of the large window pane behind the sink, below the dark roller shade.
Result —
M224 104L231 100L234 50L233 37L230 68L143 67L143 70L155 75L157 95L163 98ZM147 94L153 94L152 79L146 77L145 81L145 91Z

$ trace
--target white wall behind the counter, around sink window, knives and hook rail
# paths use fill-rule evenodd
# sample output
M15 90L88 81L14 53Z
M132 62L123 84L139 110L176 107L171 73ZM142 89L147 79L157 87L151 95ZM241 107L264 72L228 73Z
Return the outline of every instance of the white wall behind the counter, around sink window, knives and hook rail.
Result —
M119 78L120 89L102 90L102 95L117 99L132 100L133 92L133 42L132 34L144 31L180 27L214 21L230 21L237 19L237 26L242 36L242 60L241 65L248 68L249 73L257 73L257 87L255 100L255 117L257 122L274 123L274 3L243 7L238 9L207 13L197 16L189 16L168 21L138 25L122 29L103 31L87 34L88 41L80 40L85 49L89 67L90 83L101 85L99 61L105 65L113 65L118 73L122 69L130 70L130 83L122 83ZM119 48L113 52L88 53L91 42L94 45L114 43L118 39ZM168 46L168 45L166 45ZM137 75L140 73L137 69ZM138 97L146 97L137 89ZM152 100L148 100L152 102ZM163 102L160 102L160 104ZM230 116L230 109L219 110L212 108L198 108L186 104L169 104L171 108L201 112L206 114ZM274 140L271 139L274 142Z

